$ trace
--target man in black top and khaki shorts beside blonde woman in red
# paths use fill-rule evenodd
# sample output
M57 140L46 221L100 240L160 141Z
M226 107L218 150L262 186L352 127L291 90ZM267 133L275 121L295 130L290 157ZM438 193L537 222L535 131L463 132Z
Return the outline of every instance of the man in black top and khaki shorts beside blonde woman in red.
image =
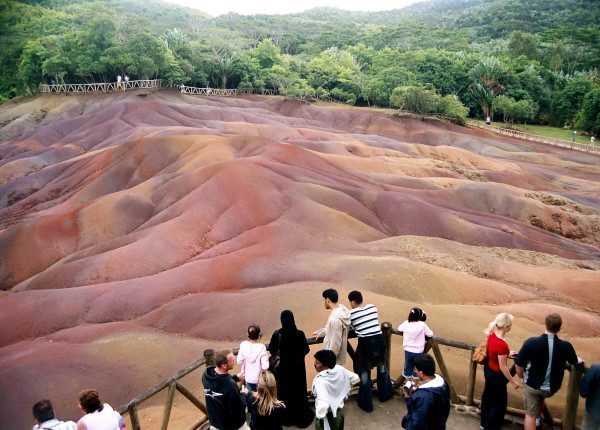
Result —
M544 400L562 385L567 362L583 363L566 340L558 338L562 326L559 314L546 315L546 332L525 341L515 358L517 375L524 379L525 430L535 430L536 418L545 408Z

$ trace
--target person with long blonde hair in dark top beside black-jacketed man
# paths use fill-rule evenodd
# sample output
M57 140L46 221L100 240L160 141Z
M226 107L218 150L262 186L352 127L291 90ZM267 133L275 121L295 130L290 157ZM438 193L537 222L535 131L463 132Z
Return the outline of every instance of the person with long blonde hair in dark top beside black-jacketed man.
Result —
M277 399L277 381L271 372L259 375L255 392L246 392L246 406L250 413L252 430L283 429L281 420L285 413L285 405Z

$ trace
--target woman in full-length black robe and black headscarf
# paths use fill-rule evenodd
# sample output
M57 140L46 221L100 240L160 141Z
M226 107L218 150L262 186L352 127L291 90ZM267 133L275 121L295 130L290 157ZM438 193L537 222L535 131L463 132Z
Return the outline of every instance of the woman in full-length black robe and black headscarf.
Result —
M281 312L281 328L269 342L271 355L279 354L279 368L275 372L278 397L286 406L283 425L308 427L315 417L308 406L306 395L306 365L304 357L310 352L304 332L296 328L294 314Z

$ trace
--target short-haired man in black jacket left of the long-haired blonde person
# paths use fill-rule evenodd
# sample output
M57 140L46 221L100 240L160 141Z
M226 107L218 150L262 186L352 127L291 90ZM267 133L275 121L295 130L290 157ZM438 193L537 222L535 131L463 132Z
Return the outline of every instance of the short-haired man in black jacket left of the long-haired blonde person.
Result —
M208 421L213 430L249 430L244 395L229 374L234 364L235 356L230 350L217 351L214 366L208 366L202 375Z

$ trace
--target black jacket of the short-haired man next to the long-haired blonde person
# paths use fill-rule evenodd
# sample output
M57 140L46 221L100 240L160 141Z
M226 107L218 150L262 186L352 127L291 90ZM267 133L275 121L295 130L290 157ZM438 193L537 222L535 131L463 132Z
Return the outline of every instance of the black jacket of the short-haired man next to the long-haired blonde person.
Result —
M219 430L237 430L246 421L246 407L233 377L220 375L209 366L202 375L210 425Z

